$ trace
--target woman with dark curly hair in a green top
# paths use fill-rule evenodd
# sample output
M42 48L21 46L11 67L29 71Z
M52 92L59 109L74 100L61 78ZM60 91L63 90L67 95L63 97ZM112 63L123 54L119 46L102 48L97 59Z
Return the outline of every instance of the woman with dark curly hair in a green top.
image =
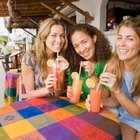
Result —
M112 47L105 35L96 27L79 24L70 32L71 45L68 47L66 58L69 61L67 96L71 97L71 85L73 71L78 71L79 65L82 66L81 76L83 86L81 98L86 99L90 90L86 85L89 77L98 79L103 72L106 62L112 54ZM104 87L103 87L104 88ZM106 94L107 93L107 94ZM109 96L104 88L104 97Z

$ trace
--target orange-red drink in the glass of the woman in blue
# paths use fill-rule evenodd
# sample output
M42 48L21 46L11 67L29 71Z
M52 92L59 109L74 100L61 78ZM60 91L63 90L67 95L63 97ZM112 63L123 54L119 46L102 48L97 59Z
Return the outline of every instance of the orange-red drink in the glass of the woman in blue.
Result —
M90 89L90 104L92 112L100 112L101 90Z

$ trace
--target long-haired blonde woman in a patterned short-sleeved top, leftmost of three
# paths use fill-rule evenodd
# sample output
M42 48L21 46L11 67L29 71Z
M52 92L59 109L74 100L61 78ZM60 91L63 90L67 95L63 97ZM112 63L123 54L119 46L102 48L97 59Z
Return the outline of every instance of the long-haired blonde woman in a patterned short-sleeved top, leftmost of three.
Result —
M27 98L52 97L55 74L49 74L47 61L56 60L59 52L59 67L63 72L69 64L63 57L67 48L66 28L58 19L48 18L41 22L35 44L26 52L22 60L22 78Z

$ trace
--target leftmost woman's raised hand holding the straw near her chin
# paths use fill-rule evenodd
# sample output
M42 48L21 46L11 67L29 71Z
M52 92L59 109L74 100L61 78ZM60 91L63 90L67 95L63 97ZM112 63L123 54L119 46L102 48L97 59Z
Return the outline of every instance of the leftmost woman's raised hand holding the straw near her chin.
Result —
M63 72L69 67L68 61L62 56L58 56L56 61L58 62L58 67L60 68L60 72Z

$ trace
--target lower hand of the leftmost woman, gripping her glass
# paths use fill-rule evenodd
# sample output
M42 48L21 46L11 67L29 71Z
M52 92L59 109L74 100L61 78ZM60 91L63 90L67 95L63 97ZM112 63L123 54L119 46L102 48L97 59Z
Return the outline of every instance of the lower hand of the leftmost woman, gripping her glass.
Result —
M49 74L45 80L45 86L50 93L54 91L54 85L56 84L56 80L57 79L54 74Z

